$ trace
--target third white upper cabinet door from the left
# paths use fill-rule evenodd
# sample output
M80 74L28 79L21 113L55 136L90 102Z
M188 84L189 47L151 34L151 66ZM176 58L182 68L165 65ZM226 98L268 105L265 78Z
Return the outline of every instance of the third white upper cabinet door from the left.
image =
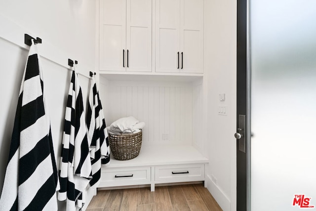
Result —
M156 72L180 72L179 38L180 0L156 0Z

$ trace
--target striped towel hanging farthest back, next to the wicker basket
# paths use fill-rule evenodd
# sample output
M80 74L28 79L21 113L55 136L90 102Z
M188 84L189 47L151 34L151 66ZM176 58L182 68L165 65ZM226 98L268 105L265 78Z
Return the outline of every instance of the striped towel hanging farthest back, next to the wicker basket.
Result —
M89 92L87 128L88 140L91 142L90 157L92 164L92 179L90 181L90 186L97 188L101 177L101 160L102 164L109 164L110 162L110 146L104 113L94 75L92 76Z

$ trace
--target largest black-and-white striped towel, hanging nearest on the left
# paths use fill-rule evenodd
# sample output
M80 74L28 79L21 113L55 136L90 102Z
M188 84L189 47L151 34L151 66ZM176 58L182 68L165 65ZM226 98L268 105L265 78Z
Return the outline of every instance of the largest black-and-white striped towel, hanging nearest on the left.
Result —
M1 211L57 211L59 189L37 46L22 79L0 198Z

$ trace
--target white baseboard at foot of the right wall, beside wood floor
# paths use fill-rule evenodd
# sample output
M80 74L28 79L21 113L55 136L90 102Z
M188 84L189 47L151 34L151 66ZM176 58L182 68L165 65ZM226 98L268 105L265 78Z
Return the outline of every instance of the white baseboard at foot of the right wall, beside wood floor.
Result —
M206 188L212 194L218 205L222 208L223 211L231 211L231 201L223 193L220 187L218 187L212 180L209 175L206 175Z

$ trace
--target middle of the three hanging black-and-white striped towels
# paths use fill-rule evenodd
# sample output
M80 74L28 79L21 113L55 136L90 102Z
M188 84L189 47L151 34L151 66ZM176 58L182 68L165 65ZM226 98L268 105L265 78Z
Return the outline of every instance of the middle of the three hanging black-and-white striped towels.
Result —
M67 211L84 205L84 190L92 178L89 143L78 73L72 73L65 114L65 127L60 160L58 200L66 200Z

